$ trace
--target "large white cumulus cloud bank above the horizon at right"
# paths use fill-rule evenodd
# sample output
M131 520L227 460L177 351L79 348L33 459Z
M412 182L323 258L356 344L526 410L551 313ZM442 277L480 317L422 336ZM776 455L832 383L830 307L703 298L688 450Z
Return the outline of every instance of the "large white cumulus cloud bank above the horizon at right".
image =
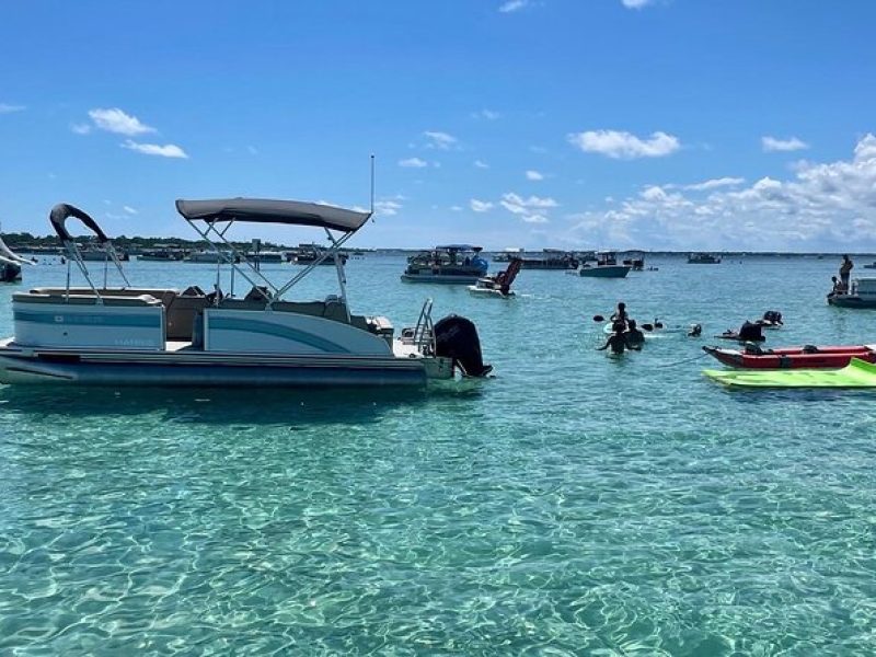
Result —
M721 184L715 184L718 181ZM703 186L706 183L711 185ZM876 137L849 160L802 162L789 180L764 176L648 185L602 211L573 216L581 241L618 246L823 250L876 245ZM685 191L708 192L689 196Z

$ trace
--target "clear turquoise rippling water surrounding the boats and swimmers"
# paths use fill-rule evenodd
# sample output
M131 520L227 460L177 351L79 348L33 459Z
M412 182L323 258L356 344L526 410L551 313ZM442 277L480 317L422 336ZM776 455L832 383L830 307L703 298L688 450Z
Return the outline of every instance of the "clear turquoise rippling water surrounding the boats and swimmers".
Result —
M527 270L511 301L349 264L357 311L473 319L474 384L0 389L0 653L872 654L876 394L728 392L713 341L612 359L591 316L713 335L776 309L770 346L876 342L876 312L825 304L829 260L648 264Z

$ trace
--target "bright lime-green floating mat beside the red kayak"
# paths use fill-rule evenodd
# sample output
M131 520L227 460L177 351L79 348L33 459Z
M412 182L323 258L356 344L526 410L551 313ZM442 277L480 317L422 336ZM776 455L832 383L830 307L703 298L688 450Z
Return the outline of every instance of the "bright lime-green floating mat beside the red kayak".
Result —
M728 388L876 388L876 365L852 358L842 369L703 370Z

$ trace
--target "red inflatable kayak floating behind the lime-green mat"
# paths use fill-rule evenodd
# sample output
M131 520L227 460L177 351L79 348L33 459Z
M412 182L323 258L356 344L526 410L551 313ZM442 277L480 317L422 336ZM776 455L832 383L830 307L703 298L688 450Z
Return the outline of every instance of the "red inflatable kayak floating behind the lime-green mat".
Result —
M785 347L781 349L724 349L703 347L727 367L738 369L839 369L852 358L876 362L876 345Z

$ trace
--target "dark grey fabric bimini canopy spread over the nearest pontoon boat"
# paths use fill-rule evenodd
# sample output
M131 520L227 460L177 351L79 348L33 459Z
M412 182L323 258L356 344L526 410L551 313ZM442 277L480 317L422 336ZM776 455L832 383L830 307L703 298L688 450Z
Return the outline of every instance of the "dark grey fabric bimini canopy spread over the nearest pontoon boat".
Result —
M315 226L344 232L359 230L371 212L357 212L344 208L269 198L217 198L210 200L176 201L176 211L186 219L200 219L208 223L219 221L250 221L255 223L286 223Z

